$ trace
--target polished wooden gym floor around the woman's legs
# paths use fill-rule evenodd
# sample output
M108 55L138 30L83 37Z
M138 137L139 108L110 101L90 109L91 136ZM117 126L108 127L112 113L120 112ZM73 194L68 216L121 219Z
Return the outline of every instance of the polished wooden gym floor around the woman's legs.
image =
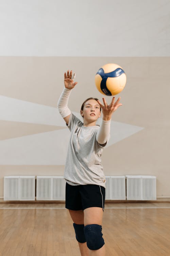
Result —
M106 256L170 256L170 202L105 203ZM0 204L0 256L80 256L65 204Z

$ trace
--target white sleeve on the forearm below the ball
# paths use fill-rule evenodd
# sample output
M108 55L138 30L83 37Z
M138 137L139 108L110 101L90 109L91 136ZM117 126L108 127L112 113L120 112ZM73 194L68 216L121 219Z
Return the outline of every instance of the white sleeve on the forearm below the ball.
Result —
M97 134L97 142L99 144L105 144L108 136L110 134L110 129L111 129L111 120L109 121L104 121L102 119L102 123L99 129L99 132Z

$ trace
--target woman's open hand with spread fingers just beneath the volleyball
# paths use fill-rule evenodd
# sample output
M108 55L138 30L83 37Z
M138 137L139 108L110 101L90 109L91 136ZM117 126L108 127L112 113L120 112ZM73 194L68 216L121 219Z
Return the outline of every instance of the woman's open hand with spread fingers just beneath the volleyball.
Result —
M111 117L112 117L113 112L115 112L118 107L122 106L122 104L119 103L120 98L121 98L121 97L119 97L119 98L117 99L117 101L114 103L115 97L113 97L111 104L110 104L110 105L107 105L106 100L105 100L105 98L103 97L104 106L101 104L101 102L100 102L99 100L97 101L97 102L99 103L100 107L102 108L102 111L103 111L103 120L104 120L104 121L111 120Z

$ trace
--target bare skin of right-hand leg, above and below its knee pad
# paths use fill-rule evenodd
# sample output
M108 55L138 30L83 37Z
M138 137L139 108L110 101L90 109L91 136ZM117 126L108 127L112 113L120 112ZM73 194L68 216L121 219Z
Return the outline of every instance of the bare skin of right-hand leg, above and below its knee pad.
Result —
M84 226L102 225L103 209L101 207L89 207L84 210ZM90 250L90 256L105 256L105 244L98 250Z

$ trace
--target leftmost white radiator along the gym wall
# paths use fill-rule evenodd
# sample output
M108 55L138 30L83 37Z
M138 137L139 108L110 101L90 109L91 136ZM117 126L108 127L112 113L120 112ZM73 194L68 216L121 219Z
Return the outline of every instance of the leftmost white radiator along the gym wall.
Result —
M35 176L4 176L4 201L28 200L35 200Z

